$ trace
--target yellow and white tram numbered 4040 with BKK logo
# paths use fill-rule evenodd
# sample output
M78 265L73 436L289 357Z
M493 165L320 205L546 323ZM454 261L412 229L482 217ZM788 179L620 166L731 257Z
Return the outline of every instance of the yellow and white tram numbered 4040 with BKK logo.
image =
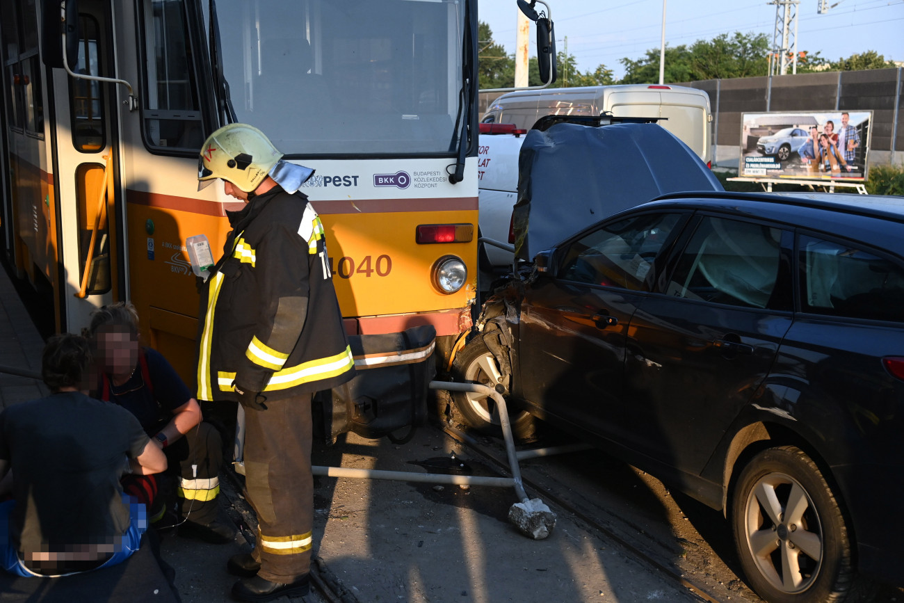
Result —
M238 209L198 191L213 130L245 122L290 161L328 237L349 334L434 325L476 298L476 0L4 0L0 231L57 331L131 300L194 381L198 294Z

